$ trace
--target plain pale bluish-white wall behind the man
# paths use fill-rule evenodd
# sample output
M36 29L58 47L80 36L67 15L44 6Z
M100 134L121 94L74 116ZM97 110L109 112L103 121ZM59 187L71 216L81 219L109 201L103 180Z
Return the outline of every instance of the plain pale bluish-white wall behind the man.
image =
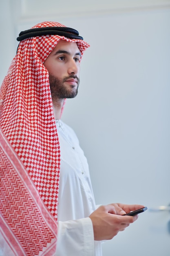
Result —
M39 2L0 3L1 26L6 22L5 29L1 27L5 37L0 41L0 80L15 54L15 38L21 30L44 20L77 29L91 48L82 60L79 94L67 100L63 120L77 132L88 158L97 204L168 204L170 1L97 1L97 5L94 0L83 7L66 1L68 9L66 4L57 8L56 1L45 9L46 1ZM144 219L138 223L136 228L146 230ZM142 241L141 246L139 239L131 244L130 237L134 241L136 236L132 230L106 243L104 256L127 254L135 245L142 247L138 256L143 255L148 244ZM157 255L169 255L168 244L161 254L155 240L150 243ZM147 250L145 255L156 255L153 246Z

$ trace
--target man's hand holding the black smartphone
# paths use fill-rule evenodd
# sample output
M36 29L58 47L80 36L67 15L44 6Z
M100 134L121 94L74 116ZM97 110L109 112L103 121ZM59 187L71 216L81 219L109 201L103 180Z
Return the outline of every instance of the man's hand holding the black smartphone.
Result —
M144 206L140 204L108 204L100 206L89 216L93 223L95 240L112 239L119 231L123 231L138 218L137 215L122 215L142 207Z

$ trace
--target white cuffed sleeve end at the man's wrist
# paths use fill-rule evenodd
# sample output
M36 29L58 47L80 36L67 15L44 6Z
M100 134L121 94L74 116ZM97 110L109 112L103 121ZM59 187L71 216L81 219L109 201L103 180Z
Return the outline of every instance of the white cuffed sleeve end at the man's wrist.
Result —
M95 242L90 218L58 222L55 256L94 256Z

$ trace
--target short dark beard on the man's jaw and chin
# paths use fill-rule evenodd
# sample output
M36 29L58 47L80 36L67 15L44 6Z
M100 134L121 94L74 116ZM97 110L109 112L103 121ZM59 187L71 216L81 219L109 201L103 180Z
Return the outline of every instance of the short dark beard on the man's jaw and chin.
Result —
M75 87L74 85L70 85L70 87L67 88L66 85L64 85L64 82L71 78L77 79L77 86ZM63 79L58 79L56 76L49 74L49 83L53 101L60 99L71 99L76 97L78 93L79 78L76 75L70 75L68 77L64 77Z

